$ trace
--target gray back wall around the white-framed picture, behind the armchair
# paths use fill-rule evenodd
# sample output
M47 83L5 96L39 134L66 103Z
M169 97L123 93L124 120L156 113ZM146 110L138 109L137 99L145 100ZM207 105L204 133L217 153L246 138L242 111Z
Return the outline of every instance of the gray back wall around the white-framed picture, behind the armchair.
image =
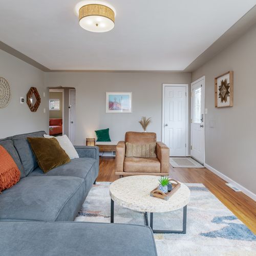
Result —
M148 132L161 140L162 83L190 83L190 73L159 72L54 72L45 73L47 87L76 89L76 144L95 137L95 130L110 128L112 140L122 140L127 131L143 131L142 116L152 117ZM133 92L133 113L106 114L105 92Z

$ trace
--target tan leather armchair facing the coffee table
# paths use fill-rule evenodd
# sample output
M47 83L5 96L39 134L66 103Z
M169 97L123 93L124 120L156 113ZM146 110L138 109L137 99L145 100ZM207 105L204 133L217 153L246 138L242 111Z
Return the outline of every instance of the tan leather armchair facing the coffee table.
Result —
M124 141L116 146L115 173L120 175L169 175L169 148L162 142L156 142L155 158L125 157L125 142L149 144L156 142L155 133L127 132Z

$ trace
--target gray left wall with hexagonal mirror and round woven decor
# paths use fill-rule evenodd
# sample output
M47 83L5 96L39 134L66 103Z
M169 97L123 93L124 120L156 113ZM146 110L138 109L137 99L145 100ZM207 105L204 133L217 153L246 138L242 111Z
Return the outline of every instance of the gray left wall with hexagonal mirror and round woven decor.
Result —
M7 107L0 109L0 138L39 130L49 131L49 91L44 87L44 72L0 50L0 76L9 81L12 94ZM37 112L31 112L26 103L30 87L36 87L41 97ZM46 93L45 98L43 92ZM24 104L19 103L21 96L25 98Z

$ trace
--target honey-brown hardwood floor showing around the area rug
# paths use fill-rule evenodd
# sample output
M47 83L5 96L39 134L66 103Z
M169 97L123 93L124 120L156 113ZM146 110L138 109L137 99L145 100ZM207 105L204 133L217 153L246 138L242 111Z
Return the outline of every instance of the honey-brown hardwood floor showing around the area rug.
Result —
M170 177L181 182L202 183L250 230L256 233L256 202L242 192L229 188L223 179L206 168L173 168ZM97 181L115 181L115 158L100 157Z

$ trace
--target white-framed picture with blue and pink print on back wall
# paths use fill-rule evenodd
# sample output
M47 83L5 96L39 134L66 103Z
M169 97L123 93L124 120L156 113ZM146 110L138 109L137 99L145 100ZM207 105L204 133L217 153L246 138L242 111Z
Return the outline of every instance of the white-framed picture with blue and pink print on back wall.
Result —
M106 92L106 113L132 113L132 92Z

